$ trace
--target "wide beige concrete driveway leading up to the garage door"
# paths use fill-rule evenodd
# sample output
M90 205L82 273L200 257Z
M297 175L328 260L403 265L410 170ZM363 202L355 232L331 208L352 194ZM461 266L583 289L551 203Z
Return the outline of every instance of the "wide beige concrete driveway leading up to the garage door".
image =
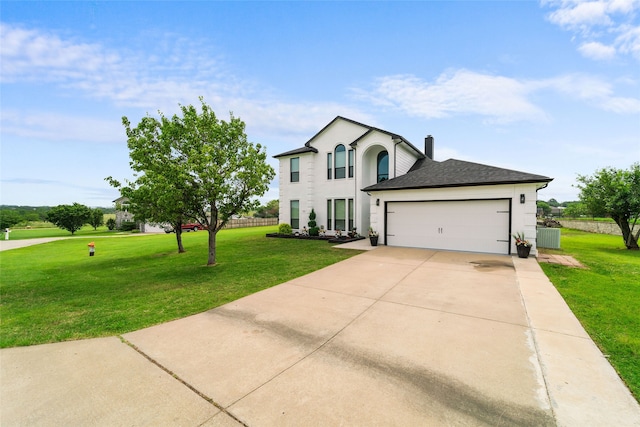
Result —
M0 363L3 426L640 425L534 258L379 247Z

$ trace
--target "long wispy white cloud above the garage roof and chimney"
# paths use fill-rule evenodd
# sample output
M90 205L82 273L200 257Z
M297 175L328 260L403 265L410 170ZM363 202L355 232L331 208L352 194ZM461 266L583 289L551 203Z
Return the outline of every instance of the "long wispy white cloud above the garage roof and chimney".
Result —
M487 117L490 122L508 123L546 120L543 109L530 99L544 90L615 113L640 112L640 99L617 97L611 83L582 74L518 80L458 70L442 74L433 82L413 75L382 77L374 82L371 90L355 92L362 99L411 116L442 118L475 114Z

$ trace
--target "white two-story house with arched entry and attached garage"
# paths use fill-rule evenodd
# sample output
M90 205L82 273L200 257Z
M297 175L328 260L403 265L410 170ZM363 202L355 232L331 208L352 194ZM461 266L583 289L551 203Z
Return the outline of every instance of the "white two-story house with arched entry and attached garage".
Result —
M402 136L336 117L280 161L280 222L366 235L392 246L510 254L511 235L536 237L537 190L552 178L449 159L433 160Z

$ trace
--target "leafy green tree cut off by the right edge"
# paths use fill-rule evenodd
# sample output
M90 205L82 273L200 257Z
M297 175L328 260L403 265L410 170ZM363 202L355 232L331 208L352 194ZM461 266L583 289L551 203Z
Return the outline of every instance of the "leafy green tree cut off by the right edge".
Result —
M578 175L580 200L594 216L610 216L620 230L627 249L638 249L640 228L640 163L629 170L604 168L593 176ZM634 234L635 231L635 234Z

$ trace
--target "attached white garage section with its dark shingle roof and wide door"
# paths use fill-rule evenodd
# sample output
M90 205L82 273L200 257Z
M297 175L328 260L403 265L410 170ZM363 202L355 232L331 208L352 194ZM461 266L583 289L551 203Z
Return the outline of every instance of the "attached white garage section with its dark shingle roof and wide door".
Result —
M536 198L551 178L449 159L423 159L362 189L381 244L511 254L524 233L535 254Z

